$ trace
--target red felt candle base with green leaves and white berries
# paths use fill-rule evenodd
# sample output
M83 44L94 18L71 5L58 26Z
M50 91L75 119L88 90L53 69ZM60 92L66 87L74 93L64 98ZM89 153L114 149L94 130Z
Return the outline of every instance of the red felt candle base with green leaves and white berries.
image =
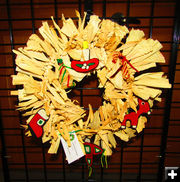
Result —
M99 59L93 58L88 61L71 61L71 68L77 72L87 73L95 69L99 64Z

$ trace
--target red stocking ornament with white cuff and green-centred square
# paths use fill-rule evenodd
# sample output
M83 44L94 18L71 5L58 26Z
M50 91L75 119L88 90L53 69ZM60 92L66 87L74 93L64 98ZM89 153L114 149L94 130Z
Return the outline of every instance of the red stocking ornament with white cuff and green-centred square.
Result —
M42 126L48 120L48 116L44 109L40 109L29 122L29 127L37 138L42 137L43 128Z

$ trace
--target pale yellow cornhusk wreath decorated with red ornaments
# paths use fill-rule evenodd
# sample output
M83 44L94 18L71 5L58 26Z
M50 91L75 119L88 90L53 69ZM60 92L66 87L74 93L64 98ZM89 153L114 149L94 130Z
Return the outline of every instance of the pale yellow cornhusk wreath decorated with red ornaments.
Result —
M85 26L86 13L83 19L77 11L76 15L78 27L62 15L60 28L52 17L53 26L43 22L40 36L32 34L26 47L13 50L17 74L12 75L12 82L23 88L11 94L18 95L17 108L28 117L27 136L33 133L29 129L35 115L39 112L44 117L35 135L51 144L48 153L57 153L61 137L70 147L70 133L76 132L84 153L89 138L103 148L103 155L110 156L117 137L127 142L143 130L144 114L150 112L154 100L161 100L161 88L171 87L163 72L148 72L157 63L165 63L162 45L146 39L139 29L128 30L96 15ZM89 104L85 119L85 109L67 92L91 74L97 74L99 88L104 88L104 102L95 112Z

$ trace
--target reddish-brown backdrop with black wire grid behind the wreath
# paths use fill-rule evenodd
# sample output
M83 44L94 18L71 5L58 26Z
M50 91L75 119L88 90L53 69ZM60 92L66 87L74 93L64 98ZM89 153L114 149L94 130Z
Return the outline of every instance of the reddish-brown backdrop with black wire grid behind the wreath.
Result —
M65 17L75 18L74 9L78 9L81 14L84 10L93 12L102 18L110 18L114 13L121 12L126 18L140 20L140 24L127 22L127 25L129 28L142 29L146 37L158 39L162 43L162 53L167 63L159 65L158 69L166 72L173 83L170 91L163 91L162 102L153 108L144 132L129 143L119 142L114 154L108 159L107 169L101 167L100 160L94 160L93 175L89 181L159 182L163 180L164 163L166 166L178 166L180 62L177 39L179 24L175 14L178 12L177 7L175 1L154 0L3 0L0 3L2 181L3 178L8 182L87 181L88 170L84 159L68 165L62 147L57 155L49 155L48 144L43 145L24 136L20 128L23 118L15 110L17 98L9 94L10 90L16 89L10 78L15 72L12 49L25 46L28 37L38 32L41 22L50 22L52 15L59 25L62 25L62 13ZM85 79L71 95L81 106L88 108L88 103L91 103L96 110L102 104L101 94L94 76ZM172 157L174 155L175 158Z

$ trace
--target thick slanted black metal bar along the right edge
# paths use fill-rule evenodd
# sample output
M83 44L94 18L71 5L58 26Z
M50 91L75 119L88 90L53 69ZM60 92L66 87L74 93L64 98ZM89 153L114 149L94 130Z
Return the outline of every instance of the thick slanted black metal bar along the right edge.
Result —
M172 94L174 88L174 80L175 80L175 70L176 70L176 62L177 62L177 53L178 53L178 45L180 38L180 4L179 0L176 1L176 9L175 9L175 20L174 20L174 28L173 28L173 37L172 37L172 51L171 51L171 64L169 70L169 81L172 84L172 88L168 90L167 99L166 99L166 108L164 115L164 123L163 123L163 134L161 138L161 148L160 148L160 160L159 160L159 168L157 175L157 182L161 182L163 180L163 172L164 172L164 164L166 157L166 145L167 145L167 136L168 136L168 127L171 113L171 103L172 103Z

